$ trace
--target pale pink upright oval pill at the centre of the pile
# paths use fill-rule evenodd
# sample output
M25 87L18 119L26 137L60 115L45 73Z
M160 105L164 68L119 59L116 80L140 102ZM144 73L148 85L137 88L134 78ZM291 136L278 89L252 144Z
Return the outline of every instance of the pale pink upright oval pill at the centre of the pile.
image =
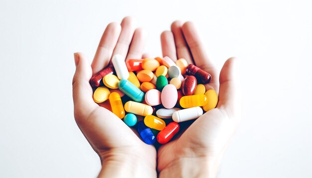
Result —
M174 85L169 84L164 86L161 91L160 98L163 107L167 109L171 109L172 107L174 107L177 101L177 90Z

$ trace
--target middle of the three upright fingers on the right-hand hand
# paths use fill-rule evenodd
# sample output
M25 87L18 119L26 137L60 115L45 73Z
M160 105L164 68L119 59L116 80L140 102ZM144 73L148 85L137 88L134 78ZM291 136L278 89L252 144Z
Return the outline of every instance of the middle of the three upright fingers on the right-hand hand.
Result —
M171 31L174 36L177 59L184 58L188 64L193 64L193 59L184 39L181 27L181 21L174 21L171 24Z

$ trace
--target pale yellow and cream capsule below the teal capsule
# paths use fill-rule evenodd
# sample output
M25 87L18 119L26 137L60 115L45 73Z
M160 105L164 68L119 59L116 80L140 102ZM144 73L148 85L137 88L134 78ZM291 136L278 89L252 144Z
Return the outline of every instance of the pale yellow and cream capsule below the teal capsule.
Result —
M152 106L149 106L144 103L135 102L135 101L128 101L125 103L125 110L127 112L147 116L153 114L153 108Z

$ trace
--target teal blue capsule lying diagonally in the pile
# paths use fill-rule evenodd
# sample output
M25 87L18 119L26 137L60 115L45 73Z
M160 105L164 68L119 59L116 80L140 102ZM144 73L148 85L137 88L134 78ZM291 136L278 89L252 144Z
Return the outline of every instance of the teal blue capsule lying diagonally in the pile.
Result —
M138 89L135 85L133 85L128 80L122 79L118 83L118 88L123 91L127 96L129 96L131 99L142 102L144 100L144 92Z

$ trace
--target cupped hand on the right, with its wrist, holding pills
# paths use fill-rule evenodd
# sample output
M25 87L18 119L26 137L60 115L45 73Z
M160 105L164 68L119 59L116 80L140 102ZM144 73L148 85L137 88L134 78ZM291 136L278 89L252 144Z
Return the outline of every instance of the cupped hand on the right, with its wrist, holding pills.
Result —
M222 157L240 120L237 59L228 59L220 73L207 56L192 22L175 21L171 31L161 34L163 56L189 64L211 74L206 89L218 91L217 107L193 123L180 123L182 135L161 146L157 152L159 177L216 177ZM191 125L190 125L191 124ZM189 126L189 127L188 127ZM188 127L188 128L187 128Z

